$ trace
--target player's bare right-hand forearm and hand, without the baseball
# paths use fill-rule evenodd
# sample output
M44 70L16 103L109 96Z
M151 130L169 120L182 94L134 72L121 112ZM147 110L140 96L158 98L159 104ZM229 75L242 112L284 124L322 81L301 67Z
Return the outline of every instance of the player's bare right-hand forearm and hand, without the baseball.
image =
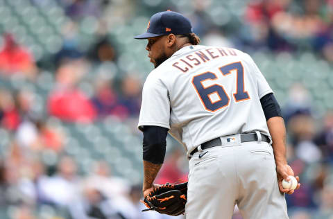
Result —
M278 174L278 184L279 189L282 193L287 193L291 195L294 190L292 189L283 189L282 180L287 179L289 175L294 175L293 170L287 164L286 158L286 128L284 125L284 120L280 116L275 116L267 121L268 130L271 133L273 140L272 146L274 151L274 158L276 164L276 172ZM300 178L296 176L297 182ZM296 189L300 188L298 183Z

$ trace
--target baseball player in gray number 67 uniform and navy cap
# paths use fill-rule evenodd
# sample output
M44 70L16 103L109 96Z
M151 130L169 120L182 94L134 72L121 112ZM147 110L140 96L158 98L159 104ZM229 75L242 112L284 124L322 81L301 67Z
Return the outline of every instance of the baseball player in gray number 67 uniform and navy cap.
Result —
M288 218L282 179L286 130L272 89L250 56L237 49L199 46L189 19L167 11L149 21L148 58L155 69L142 92L146 197L160 170L167 132L189 159L187 219ZM296 177L299 182L299 178ZM296 189L300 187L298 186Z

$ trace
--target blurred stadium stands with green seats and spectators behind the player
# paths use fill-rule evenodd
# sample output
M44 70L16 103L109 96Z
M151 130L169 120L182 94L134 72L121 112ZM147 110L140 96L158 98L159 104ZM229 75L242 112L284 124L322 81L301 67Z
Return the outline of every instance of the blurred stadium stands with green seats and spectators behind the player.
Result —
M153 65L133 36L168 9L202 44L253 57L302 182L290 218L333 218L332 0L0 0L0 218L167 218L140 212L137 120ZM182 182L185 152L167 141L156 182Z

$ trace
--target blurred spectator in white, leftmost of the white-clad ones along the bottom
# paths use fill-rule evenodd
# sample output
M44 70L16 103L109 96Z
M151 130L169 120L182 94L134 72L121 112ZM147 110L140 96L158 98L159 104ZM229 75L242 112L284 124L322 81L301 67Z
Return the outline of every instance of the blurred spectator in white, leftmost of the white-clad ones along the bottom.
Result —
M43 187L46 200L57 206L69 206L76 200L80 189L80 177L74 159L62 157L58 164L58 172L47 180Z

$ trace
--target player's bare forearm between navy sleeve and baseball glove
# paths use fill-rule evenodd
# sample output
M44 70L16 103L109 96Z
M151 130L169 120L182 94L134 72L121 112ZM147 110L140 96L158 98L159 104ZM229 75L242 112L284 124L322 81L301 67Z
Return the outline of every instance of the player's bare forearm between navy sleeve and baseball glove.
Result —
M154 189L153 182L161 167L162 164L153 164L149 161L144 161L144 185L142 188L144 197Z

